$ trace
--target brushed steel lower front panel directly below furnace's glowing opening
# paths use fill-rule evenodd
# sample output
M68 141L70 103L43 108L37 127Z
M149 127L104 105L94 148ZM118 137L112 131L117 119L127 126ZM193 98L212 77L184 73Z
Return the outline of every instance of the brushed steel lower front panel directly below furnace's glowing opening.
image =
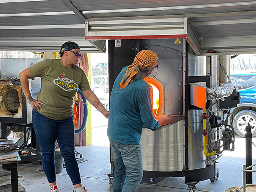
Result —
M155 132L143 128L143 170L182 171L185 166L185 120L160 126Z

